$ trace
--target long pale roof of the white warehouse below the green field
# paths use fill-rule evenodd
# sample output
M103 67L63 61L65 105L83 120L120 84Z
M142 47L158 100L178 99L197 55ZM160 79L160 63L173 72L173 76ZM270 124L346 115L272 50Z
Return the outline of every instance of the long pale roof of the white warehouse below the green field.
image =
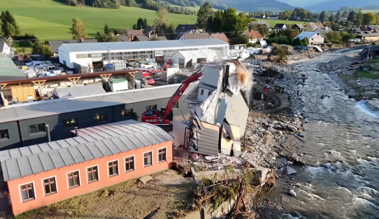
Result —
M69 52L129 50L129 49L165 49L174 47L199 47L228 45L219 39L184 39L184 40L155 40L143 42L98 42L62 44L58 50L66 48Z

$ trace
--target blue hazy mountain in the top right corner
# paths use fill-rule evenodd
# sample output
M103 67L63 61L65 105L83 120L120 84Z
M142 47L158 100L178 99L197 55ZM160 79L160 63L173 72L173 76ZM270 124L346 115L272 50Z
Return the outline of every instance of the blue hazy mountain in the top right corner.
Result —
M330 0L327 2L319 3L314 6L309 6L306 9L311 12L322 12L322 11L335 11L339 10L341 7L356 7L356 8L364 8L367 6L378 5L377 0Z

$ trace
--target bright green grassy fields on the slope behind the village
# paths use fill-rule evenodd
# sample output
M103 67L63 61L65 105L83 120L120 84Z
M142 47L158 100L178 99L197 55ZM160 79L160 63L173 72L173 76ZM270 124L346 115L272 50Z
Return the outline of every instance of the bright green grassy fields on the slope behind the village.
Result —
M59 0L0 0L0 10L9 10L15 17L22 33L35 34L40 39L71 39L69 28L73 17L80 18L89 37L101 31L107 23L110 28L132 28L139 17L153 23L155 11L121 7L99 9L73 7ZM196 23L195 15L169 14L170 21L178 24Z

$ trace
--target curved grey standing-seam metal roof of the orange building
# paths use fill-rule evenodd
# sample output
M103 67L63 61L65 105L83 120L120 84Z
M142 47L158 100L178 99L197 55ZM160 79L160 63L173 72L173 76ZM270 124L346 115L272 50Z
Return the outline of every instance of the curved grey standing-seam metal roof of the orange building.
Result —
M158 126L128 120L102 125L97 133L1 151L0 160L9 181L172 139Z

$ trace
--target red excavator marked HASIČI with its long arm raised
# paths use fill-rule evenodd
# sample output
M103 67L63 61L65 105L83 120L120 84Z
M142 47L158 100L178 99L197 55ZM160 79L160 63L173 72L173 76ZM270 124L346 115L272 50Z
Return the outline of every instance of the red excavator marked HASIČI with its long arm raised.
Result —
M198 71L185 79L179 88L175 91L175 93L171 96L166 108L161 108L160 111L155 109L148 109L142 114L142 122L151 123L154 125L170 125L173 119L172 107L177 103L189 84L197 81L201 76L203 76L203 73L201 71Z

